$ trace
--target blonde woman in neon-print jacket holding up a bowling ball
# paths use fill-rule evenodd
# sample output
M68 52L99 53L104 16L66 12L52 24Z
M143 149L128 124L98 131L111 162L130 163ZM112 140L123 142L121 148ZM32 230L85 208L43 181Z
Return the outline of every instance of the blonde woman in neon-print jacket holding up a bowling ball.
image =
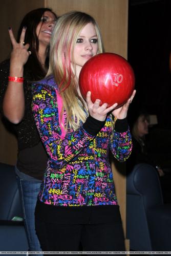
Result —
M131 98L115 109L84 100L78 77L84 63L103 51L94 18L62 15L54 27L50 66L33 85L33 115L49 155L35 210L43 251L122 251L124 237L109 150L119 161L132 148L126 121Z

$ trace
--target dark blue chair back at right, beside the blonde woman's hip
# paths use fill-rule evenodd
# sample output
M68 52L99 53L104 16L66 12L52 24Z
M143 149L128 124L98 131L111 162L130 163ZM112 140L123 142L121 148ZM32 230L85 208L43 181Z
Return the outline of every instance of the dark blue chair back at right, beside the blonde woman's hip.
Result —
M149 164L137 164L126 179L126 237L131 249L152 251L147 211L155 205L163 205L156 169Z

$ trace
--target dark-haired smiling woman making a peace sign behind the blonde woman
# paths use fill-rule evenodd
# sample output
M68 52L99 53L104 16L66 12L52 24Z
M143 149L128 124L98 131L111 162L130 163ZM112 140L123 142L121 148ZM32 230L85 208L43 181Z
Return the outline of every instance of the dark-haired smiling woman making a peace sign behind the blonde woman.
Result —
M29 251L41 250L35 233L34 208L47 165L47 154L32 117L31 82L47 73L49 43L56 19L56 14L48 8L29 12L20 25L17 41L9 28L11 58L0 66L1 112L11 122L18 140L16 175Z

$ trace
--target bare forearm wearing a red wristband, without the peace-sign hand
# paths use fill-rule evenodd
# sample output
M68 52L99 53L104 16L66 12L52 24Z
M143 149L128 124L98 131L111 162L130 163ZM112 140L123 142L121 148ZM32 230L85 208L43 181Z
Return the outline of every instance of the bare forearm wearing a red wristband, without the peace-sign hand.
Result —
M11 63L10 76L23 77L23 67ZM3 101L3 112L5 117L12 123L19 123L25 112L25 96L23 82L8 82Z

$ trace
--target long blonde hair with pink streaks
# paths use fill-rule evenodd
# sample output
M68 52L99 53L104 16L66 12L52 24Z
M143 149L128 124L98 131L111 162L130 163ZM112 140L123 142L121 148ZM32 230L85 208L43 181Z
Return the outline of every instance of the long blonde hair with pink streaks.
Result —
M77 92L78 79L71 66L74 59L74 46L81 30L88 23L95 27L98 39L98 53L103 52L103 45L99 27L94 18L83 12L69 12L60 16L54 27L50 43L50 63L47 76L53 75L58 84L59 94L63 100L63 110L67 112L68 125L74 131L79 127L80 121L85 122L88 116L87 106L84 105ZM61 118L60 116L60 118Z

